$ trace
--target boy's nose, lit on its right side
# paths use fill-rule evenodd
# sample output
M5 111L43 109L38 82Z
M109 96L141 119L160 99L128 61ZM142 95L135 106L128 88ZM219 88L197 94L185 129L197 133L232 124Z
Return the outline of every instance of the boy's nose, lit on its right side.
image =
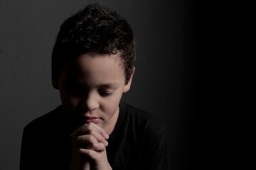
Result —
M82 96L80 106L85 111L94 111L99 108L100 104L97 100L97 94L93 92L88 93L86 96Z

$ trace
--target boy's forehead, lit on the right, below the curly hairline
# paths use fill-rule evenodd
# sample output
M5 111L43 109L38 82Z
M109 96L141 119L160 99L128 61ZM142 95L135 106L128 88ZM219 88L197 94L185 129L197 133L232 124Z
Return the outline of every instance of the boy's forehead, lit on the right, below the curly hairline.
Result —
M91 84L117 84L124 81L124 67L119 52L115 55L87 53L66 64L65 79Z

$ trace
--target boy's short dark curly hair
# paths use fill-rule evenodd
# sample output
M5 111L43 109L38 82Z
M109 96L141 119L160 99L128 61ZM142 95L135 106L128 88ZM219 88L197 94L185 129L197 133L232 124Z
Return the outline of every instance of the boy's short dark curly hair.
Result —
M58 81L64 64L87 52L121 52L126 84L135 64L135 40L132 28L116 11L90 4L68 18L58 33L52 54L52 80Z

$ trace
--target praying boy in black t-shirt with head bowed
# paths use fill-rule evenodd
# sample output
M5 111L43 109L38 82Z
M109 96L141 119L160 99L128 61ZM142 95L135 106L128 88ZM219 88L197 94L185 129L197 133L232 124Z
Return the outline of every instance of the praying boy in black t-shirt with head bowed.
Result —
M134 74L127 21L97 4L60 27L52 84L62 105L23 130L22 169L169 169L164 128L120 102Z

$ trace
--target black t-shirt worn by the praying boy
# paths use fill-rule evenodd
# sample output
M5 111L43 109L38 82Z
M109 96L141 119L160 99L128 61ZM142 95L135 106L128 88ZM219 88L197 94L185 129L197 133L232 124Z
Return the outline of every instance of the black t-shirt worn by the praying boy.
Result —
M169 149L164 126L154 115L119 104L117 124L110 135L107 159L113 170L169 170ZM23 130L21 170L69 169L75 130L58 106Z

